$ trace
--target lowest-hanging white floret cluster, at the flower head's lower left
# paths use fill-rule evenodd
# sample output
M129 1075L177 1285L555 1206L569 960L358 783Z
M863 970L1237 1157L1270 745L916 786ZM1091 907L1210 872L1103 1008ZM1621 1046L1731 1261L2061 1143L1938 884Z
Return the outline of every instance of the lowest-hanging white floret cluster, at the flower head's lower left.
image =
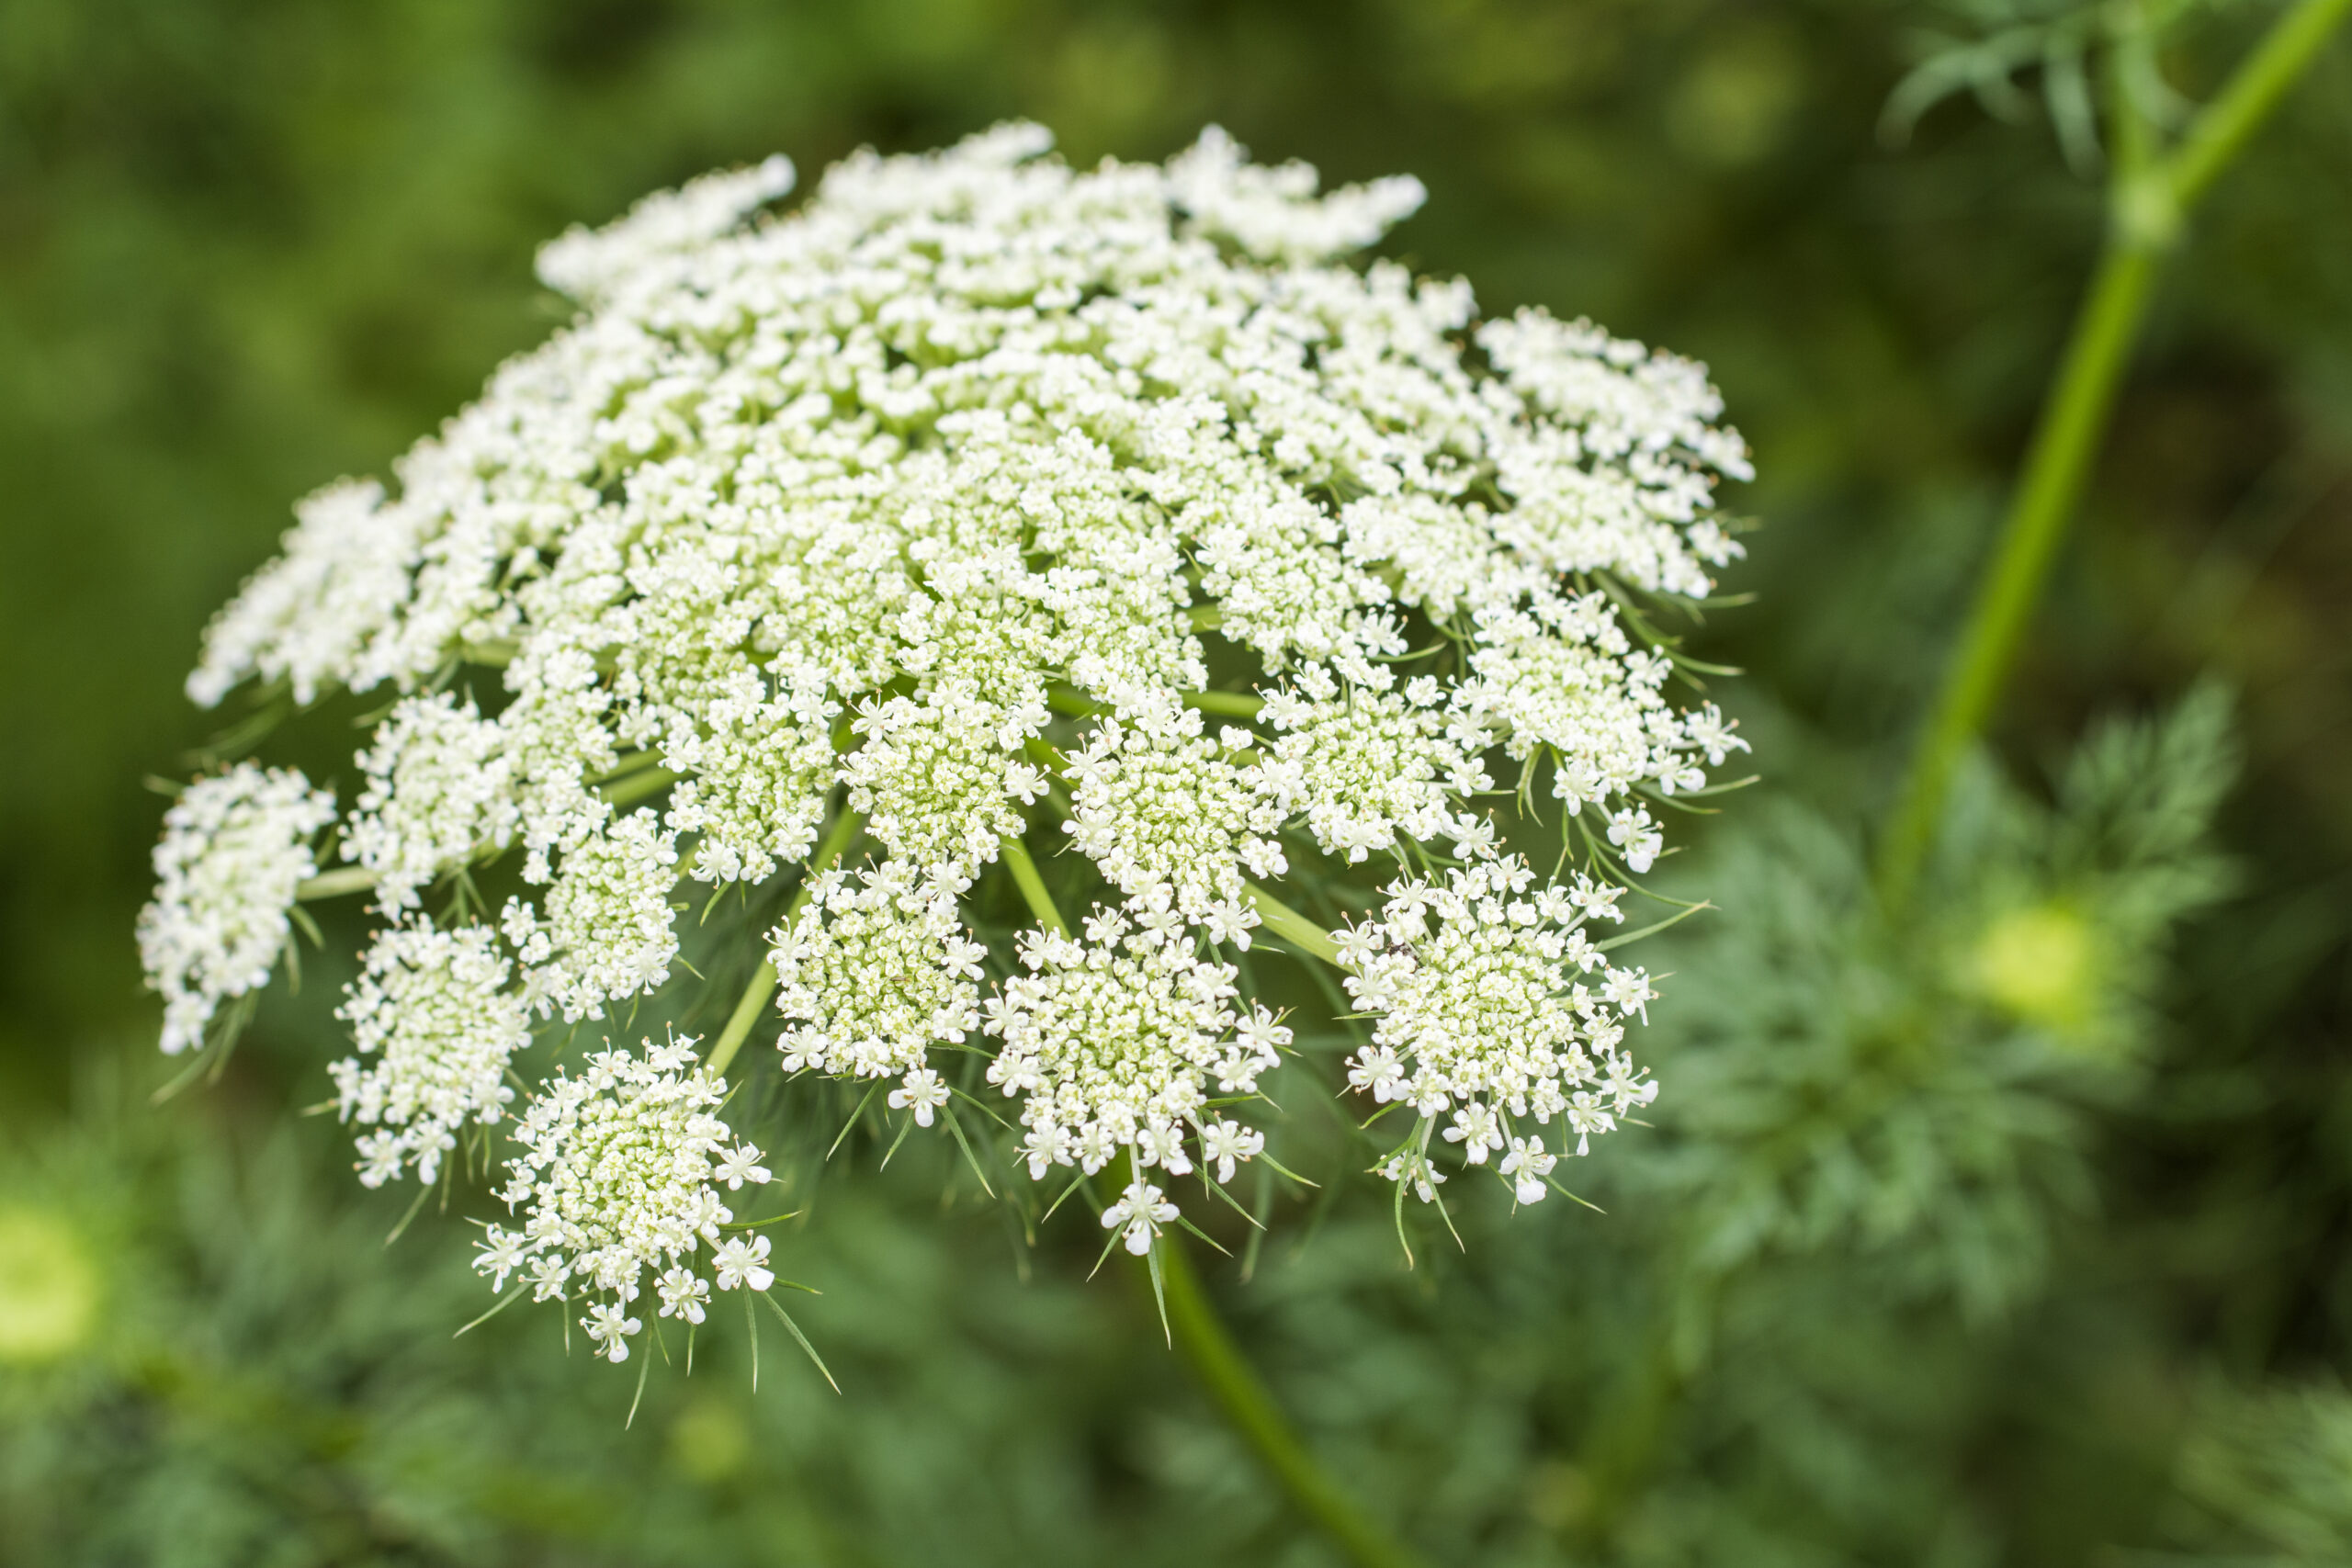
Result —
M564 1300L572 1286L604 1295L581 1326L597 1352L628 1359L628 1335L644 1324L628 1307L654 1279L661 1316L701 1324L715 1276L720 1291L774 1284L767 1237L720 1239L734 1211L717 1182L741 1192L767 1182L760 1150L734 1143L713 1112L724 1079L694 1067L694 1041L647 1044L644 1058L600 1051L579 1077L557 1072L532 1095L515 1131L506 1206L524 1206L522 1229L489 1225L475 1269L503 1291L527 1269L536 1300ZM710 1276L694 1262L710 1244Z

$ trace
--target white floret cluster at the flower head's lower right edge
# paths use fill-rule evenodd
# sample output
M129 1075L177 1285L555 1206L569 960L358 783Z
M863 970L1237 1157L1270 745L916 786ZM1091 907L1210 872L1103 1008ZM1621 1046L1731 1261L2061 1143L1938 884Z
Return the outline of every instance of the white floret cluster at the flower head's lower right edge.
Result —
M1437 884L1402 877L1381 919L1336 933L1348 994L1378 1018L1371 1046L1348 1060L1348 1086L1414 1107L1416 1131L1383 1175L1414 1180L1423 1201L1444 1180L1428 1164L1442 1117L1468 1164L1503 1154L1501 1173L1534 1204L1557 1157L1515 1121L1559 1117L1562 1145L1573 1133L1585 1154L1592 1133L1658 1093L1621 1048L1625 1020L1646 1020L1656 999L1649 976L1611 969L1585 933L1588 919L1623 919L1618 889L1576 877L1531 893L1534 879L1517 856ZM1578 978L1592 973L1592 985Z

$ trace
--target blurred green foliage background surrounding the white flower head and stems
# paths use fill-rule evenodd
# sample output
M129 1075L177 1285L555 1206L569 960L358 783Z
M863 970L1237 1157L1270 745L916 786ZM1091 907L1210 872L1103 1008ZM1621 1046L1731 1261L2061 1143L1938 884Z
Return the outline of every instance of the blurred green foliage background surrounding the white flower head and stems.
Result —
M1073 162L1216 120L1421 174L1392 254L1708 360L1757 454L1759 599L1698 646L1752 670L1769 783L1684 856L1712 926L1644 950L1663 1126L1581 1171L1609 1213L1406 1274L1355 1194L1214 1272L1336 1474L1439 1563L2352 1561L2352 42L2171 263L1893 940L1860 832L2100 233L2030 96L1879 136L1966 9L0 7L0 1563L1336 1561L1148 1295L936 1168L788 1244L842 1399L720 1345L623 1429L553 1319L452 1342L456 1220L386 1246L402 1199L287 1114L332 961L148 1105L141 780L205 738L179 679L289 501L541 339L567 223L1016 115ZM2171 80L2270 14L2192 7Z

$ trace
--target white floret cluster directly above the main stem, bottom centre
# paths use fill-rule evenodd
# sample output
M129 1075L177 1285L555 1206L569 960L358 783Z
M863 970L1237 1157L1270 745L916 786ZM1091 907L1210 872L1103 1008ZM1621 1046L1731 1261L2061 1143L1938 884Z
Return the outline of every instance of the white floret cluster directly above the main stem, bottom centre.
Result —
M1291 1032L1263 1006L1237 1016L1232 966L1200 959L1178 940L1181 926L1162 884L1138 907L1096 907L1084 943L1051 931L1021 938L1030 973L1007 980L988 1004L985 1030L1004 1041L988 1081L1023 1098L1033 1180L1054 1166L1091 1175L1122 1150L1136 1180L1145 1166L1185 1175L1188 1138L1218 1166L1218 1180L1232 1180L1232 1161L1265 1147L1258 1133L1214 1114L1207 1084L1256 1093ZM1145 1251L1152 1211L1145 1204L1138 1213L1143 1229L1129 1229L1129 1246Z

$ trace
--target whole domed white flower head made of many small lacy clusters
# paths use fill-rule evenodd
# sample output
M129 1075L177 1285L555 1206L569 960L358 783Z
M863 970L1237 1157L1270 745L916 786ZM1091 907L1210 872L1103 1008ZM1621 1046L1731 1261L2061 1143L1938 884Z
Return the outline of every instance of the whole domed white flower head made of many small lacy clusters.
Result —
M701 985L682 912L779 882L786 1072L889 1081L920 1124L1009 1098L1040 1180L1120 1161L1110 1225L1148 1248L1174 1213L1148 1175L1263 1150L1289 1032L1237 959L1305 924L1287 898L1331 907L1289 886L1312 860L1357 907L1397 875L1343 933L1378 1020L1352 1072L1421 1117L1390 1175L1428 1192L1442 1124L1541 1197L1524 1126L1583 1147L1649 1093L1618 1053L1646 983L1592 971L1613 886L1534 889L1496 809L1639 875L1653 806L1740 748L1670 701L1630 609L1738 555L1712 494L1748 463L1705 371L1350 266L1421 186L1319 195L1214 129L1080 172L1014 125L790 188L779 158L546 247L574 320L390 484L303 501L212 623L198 703L388 708L341 870L299 776L240 766L172 811L141 924L167 1044L263 978L306 879L369 886L390 931L339 1105L369 1180L430 1180L527 1084L529 1030ZM506 856L503 907L428 907ZM1004 877L1035 926L983 938ZM614 1349L640 1272L699 1312L680 1269L715 1237L715 1088L673 1056L532 1091L532 1220L492 1232L499 1276L590 1279Z

